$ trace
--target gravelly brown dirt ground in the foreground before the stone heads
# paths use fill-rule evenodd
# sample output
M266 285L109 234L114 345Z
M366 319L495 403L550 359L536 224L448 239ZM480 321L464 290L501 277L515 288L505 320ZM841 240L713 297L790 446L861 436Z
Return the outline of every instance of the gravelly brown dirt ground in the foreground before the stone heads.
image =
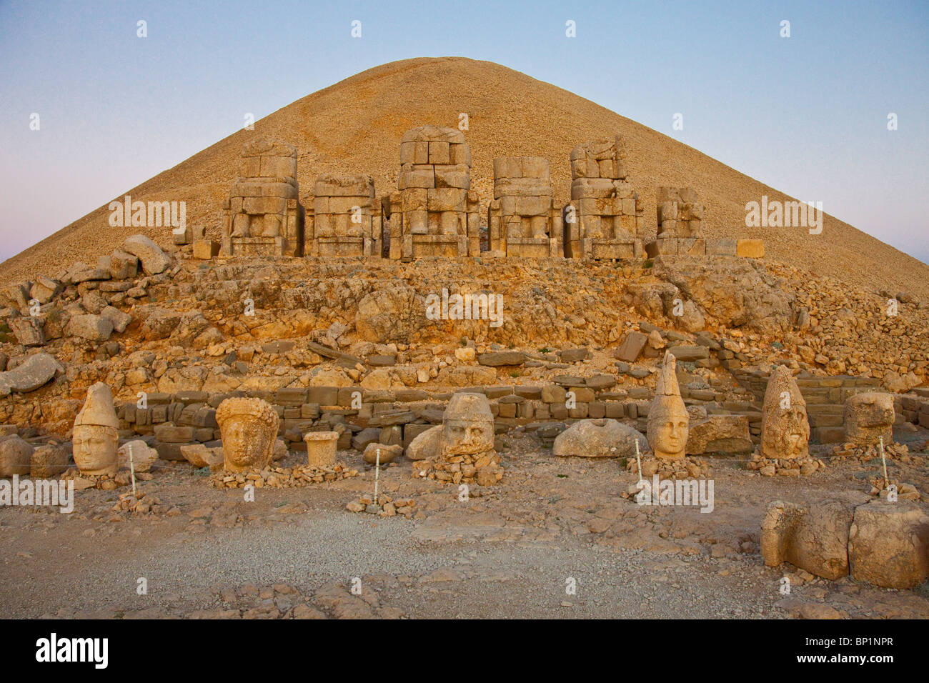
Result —
M917 449L927 439L924 429L896 435L922 462L888 463L924 507L929 453ZM765 567L759 553L770 501L864 502L880 462L767 478L711 458L714 506L701 513L623 499L636 477L616 460L557 458L519 432L504 440L503 482L472 487L466 501L457 487L412 479L405 458L384 467L381 491L412 497L412 519L346 510L373 493L373 469L354 451L339 456L360 477L256 489L255 502L158 461L141 486L164 514L113 512L126 488L76 492L70 515L0 508L0 617L929 618L927 584L825 581ZM785 575L790 595L779 592Z

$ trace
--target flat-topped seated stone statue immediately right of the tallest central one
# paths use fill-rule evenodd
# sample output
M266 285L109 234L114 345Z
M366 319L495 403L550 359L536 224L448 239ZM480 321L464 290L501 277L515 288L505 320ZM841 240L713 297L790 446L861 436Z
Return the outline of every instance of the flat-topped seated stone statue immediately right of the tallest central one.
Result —
M523 258L563 255L561 211L549 163L537 156L493 160L493 201L487 211L491 252Z

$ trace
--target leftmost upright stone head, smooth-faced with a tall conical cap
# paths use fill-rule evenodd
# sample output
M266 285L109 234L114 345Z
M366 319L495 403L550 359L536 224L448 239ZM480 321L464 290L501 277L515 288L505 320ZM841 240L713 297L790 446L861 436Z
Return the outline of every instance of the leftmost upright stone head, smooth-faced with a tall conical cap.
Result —
M74 464L84 474L115 474L119 468L119 420L110 387L98 382L87 389L84 407L74 418Z

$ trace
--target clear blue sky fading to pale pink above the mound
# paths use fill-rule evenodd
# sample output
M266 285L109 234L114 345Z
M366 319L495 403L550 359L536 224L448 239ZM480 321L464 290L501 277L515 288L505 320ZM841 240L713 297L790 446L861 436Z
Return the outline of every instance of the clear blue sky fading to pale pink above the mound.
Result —
M233 133L244 112L445 55L592 99L929 262L924 0L0 2L0 259Z

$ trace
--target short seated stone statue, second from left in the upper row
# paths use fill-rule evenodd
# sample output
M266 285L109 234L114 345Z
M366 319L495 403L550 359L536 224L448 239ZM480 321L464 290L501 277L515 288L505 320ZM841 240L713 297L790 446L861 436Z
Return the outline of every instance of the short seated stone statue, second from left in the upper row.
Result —
M371 176L322 174L307 217L307 256L380 256L381 206Z

